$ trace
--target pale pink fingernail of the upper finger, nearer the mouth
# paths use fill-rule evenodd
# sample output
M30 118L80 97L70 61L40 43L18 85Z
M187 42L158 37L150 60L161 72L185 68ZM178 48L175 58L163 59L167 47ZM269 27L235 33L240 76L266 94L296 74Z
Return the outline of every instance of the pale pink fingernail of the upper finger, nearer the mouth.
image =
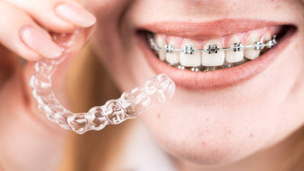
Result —
M61 3L56 6L55 11L59 17L79 27L89 27L96 22L95 16L80 5Z

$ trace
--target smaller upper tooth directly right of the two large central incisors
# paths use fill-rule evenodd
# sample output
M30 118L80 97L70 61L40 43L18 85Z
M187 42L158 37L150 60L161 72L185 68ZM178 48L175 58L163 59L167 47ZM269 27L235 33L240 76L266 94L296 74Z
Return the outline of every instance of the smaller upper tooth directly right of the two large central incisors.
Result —
M233 37L230 40L230 44L229 46L233 46L234 43L239 43L240 39L237 37ZM244 57L244 51L233 51L233 50L227 50L226 54L225 54L225 59L227 62L233 63L233 62L239 62L241 60L243 60Z

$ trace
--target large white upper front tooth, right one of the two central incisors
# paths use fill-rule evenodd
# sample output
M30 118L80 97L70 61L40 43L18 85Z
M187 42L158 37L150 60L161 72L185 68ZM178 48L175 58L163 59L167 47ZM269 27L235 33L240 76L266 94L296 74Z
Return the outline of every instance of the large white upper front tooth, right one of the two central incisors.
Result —
M208 45L213 45L216 44L218 45L218 48L222 48L220 41L218 40L211 40L206 43L204 46L204 49L208 49ZM215 67L215 66L220 66L223 65L225 61L225 52L220 51L218 53L211 53L209 54L208 52L202 52L202 65L203 66L210 66L210 67Z

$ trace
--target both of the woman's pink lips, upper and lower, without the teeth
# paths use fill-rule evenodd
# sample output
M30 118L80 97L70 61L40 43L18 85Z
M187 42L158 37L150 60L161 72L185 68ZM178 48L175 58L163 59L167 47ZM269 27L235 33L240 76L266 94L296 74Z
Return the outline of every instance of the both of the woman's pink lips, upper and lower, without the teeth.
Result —
M211 39L237 32L284 24L287 25L286 23L273 21L223 19L205 23L158 22L146 24L140 27L140 29L145 29L153 33L177 35L193 39ZM255 60L236 67L212 72L192 72L170 67L155 57L145 36L139 36L138 40L139 46L144 50L146 59L156 74L166 74L179 87L201 89L238 85L258 75L264 71L290 43L293 33L294 29L289 29L275 47Z

